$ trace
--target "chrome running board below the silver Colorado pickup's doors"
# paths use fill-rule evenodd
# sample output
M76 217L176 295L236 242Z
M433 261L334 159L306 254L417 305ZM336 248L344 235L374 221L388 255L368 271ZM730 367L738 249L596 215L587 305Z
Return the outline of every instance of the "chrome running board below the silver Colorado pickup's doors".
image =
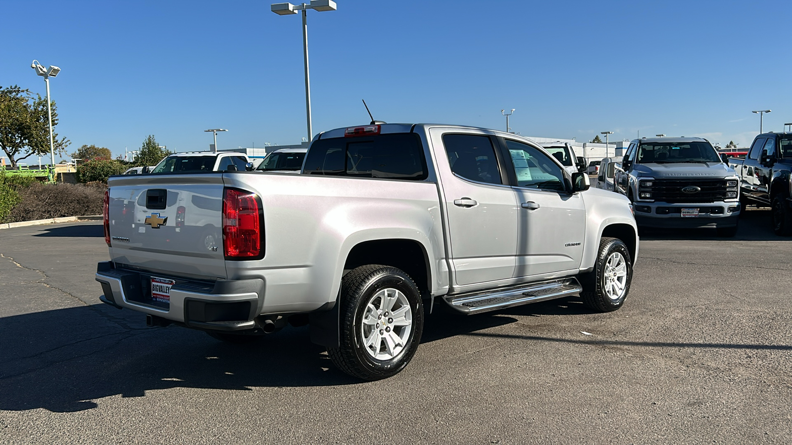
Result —
M466 294L445 295L443 299L448 303L448 306L459 310L463 314L478 314L531 302L580 295L582 290L583 288L577 282L577 279L563 278L561 280L520 284L519 286L501 287L486 291L474 291Z

